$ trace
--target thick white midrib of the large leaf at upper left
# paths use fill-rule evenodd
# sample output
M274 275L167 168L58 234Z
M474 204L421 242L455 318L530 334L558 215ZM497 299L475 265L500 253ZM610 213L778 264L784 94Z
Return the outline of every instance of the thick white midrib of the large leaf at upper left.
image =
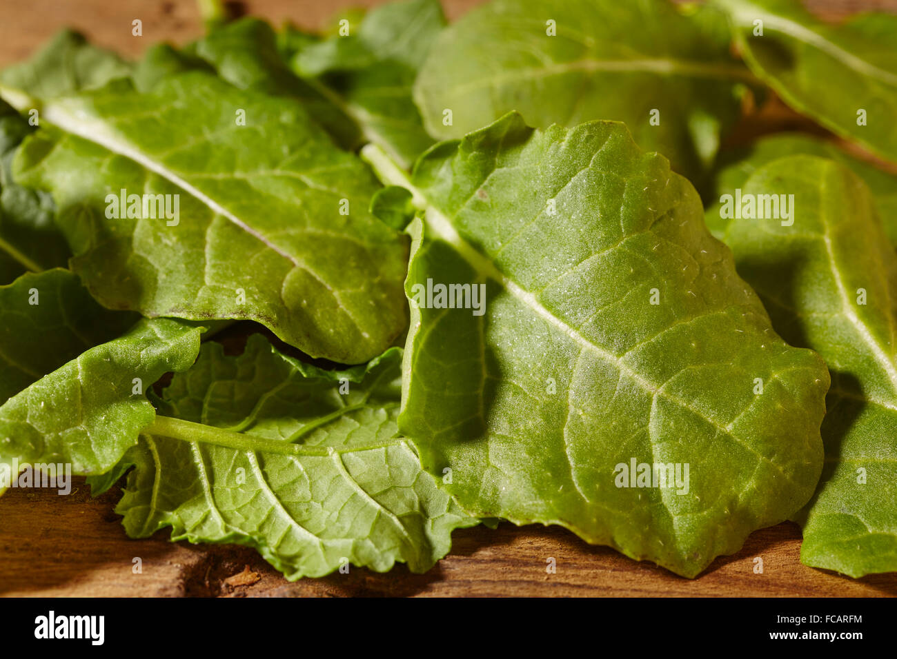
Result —
M17 93L6 87L0 88L0 96L19 110L22 110L22 108L33 107L34 105L34 101L27 95L22 94L21 92ZM180 178L160 162L152 160L152 158L147 156L144 152L135 149L133 146L123 141L117 134L110 131L109 126L100 119L91 117L88 113L78 110L77 108L67 108L65 101L48 101L41 106L40 111L43 118L45 118L48 123L61 128L68 134L74 134L88 142L99 144L110 152L118 153L118 155L124 156L129 160L134 160L144 169L149 169L153 173L161 176L161 178L165 178L173 185L178 186L188 195L196 197L197 200L205 204L212 212L233 222L241 230L246 231L250 236L256 238L263 245L289 260L293 265L300 265L300 262L295 256L292 256L288 252L283 251L280 247L274 245L265 236L250 227L246 222L240 220L239 217L228 211L212 197L205 195L205 193L196 189L195 186L187 183L186 180Z

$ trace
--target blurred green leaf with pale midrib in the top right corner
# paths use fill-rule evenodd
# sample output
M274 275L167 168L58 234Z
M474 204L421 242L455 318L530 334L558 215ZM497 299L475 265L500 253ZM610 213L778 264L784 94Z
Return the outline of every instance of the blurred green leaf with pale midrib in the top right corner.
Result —
M795 0L715 4L730 14L753 73L789 106L897 161L897 15L867 13L830 25ZM755 34L756 21L762 36Z

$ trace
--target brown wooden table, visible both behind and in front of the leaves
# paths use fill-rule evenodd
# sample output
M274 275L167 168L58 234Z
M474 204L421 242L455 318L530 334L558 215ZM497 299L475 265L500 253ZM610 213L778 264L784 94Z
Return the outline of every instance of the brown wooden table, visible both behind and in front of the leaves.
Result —
M443 0L457 17L480 0ZM317 27L347 5L379 0L254 0L247 13L280 23ZM897 12L897 0L817 0L814 10L839 18L860 9ZM131 22L144 22L143 38ZM183 43L201 33L192 2L30 0L0 4L0 65L28 56L63 26L85 32L101 46L139 56L161 39ZM10 490L0 499L0 595L279 596L279 595L897 595L897 575L862 579L806 568L799 560L800 530L790 523L753 533L734 556L720 557L693 580L590 547L558 527L518 528L504 523L457 531L446 559L424 575L398 566L386 574L351 568L349 574L289 583L253 550L236 546L126 537L112 512L113 489L91 499L83 480L73 493ZM762 574L754 573L756 558ZM135 558L142 571L134 573ZM556 572L546 571L556 560Z

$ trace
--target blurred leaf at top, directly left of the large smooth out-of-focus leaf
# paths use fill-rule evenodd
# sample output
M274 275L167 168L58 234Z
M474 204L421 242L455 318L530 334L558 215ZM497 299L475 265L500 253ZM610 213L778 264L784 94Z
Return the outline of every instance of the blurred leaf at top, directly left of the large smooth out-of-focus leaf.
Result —
M361 126L365 140L410 167L433 143L412 100L418 69L445 27L439 0L381 5L348 36L300 48L297 74L323 86L323 93Z

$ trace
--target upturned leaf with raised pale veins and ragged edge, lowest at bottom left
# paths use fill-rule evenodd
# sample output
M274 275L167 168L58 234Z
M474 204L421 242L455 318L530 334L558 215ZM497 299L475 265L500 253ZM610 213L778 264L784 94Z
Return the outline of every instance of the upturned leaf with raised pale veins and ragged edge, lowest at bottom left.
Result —
M396 436L401 351L348 371L316 369L253 334L225 357L206 343L164 391L127 456L116 511L127 533L255 547L291 579L349 561L423 572L453 529L477 524Z

